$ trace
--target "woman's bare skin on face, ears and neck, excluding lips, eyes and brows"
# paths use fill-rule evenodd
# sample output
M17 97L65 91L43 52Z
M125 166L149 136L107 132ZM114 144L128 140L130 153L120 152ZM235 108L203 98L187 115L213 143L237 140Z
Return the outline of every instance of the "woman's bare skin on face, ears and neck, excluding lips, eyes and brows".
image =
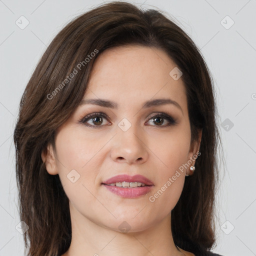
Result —
M154 202L149 201L196 154L201 140L200 131L199 141L190 145L185 87L181 78L169 75L175 66L164 51L145 46L107 49L96 59L83 98L108 99L118 108L79 105L58 128L56 151L49 144L47 154L41 154L47 172L59 175L69 198L72 240L64 256L194 255L175 246L170 229L170 212L189 168L179 171L176 180ZM144 101L155 98L171 98L182 110L173 104L141 108ZM101 125L95 128L79 122L94 112L109 119L88 120ZM159 112L177 124L165 126L168 121L163 119L157 125L149 115ZM122 118L131 124L126 131L118 126ZM72 169L80 175L74 183L67 178ZM148 194L123 198L101 185L117 174L141 174L154 186ZM130 227L126 233L118 228L123 221Z

